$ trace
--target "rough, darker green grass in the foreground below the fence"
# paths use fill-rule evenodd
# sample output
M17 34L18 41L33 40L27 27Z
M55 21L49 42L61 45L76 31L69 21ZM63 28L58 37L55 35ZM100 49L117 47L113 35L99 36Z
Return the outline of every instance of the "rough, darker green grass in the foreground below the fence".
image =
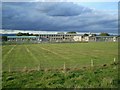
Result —
M3 72L3 88L117 88L117 64L75 70Z

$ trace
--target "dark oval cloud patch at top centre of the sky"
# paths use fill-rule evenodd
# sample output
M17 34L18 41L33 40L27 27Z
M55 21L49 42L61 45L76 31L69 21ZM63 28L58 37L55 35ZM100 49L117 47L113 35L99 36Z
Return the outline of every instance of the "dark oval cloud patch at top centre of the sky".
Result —
M77 16L92 11L74 3L41 3L37 5L37 9L50 16Z

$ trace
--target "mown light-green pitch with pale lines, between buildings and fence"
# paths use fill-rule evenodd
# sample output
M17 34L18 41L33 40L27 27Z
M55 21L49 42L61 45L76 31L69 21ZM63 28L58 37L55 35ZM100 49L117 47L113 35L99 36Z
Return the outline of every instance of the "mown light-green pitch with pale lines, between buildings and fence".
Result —
M47 43L2 46L3 71L81 68L118 60L117 42Z

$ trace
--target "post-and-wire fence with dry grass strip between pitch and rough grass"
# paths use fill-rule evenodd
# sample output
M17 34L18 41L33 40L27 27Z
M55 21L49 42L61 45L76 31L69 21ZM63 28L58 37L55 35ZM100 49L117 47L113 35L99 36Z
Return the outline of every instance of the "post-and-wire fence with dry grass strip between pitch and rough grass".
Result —
M66 71L76 71L76 70L85 70L85 69L95 69L96 67L109 67L111 65L118 65L118 62L116 61L116 59L114 58L113 62L109 63L109 64L99 64L99 65L95 65L94 61L91 60L90 61L90 65L87 66L82 66L82 67L78 67L77 65L73 66L73 67L68 67L66 63L64 63L62 65L62 67L41 67L40 65L36 66L36 67L12 67L9 65L9 67L7 69L3 71L7 71L7 72L16 72L16 71L20 71L20 72L31 72L31 71L62 71L62 72L66 72Z

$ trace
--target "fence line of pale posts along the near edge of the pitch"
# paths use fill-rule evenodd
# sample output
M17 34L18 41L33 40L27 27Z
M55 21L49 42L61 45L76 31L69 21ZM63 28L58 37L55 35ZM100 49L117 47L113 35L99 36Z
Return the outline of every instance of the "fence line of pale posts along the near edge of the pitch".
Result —
M100 64L100 65L95 65L95 61L93 61L93 59L91 59L90 61L90 65L88 66L82 66L82 67L66 67L66 63L64 62L63 66L62 67L41 67L41 65L39 64L38 66L36 67L27 67L27 66L24 66L24 67L11 67L10 64L8 66L8 70L3 70L3 71L8 71L8 72L12 72L12 71L50 71L50 70L60 70L62 71L63 73L66 73L66 71L69 71L69 70L80 70L80 69L83 69L84 67L85 68L95 68L95 67L100 67L100 66L103 66L105 67L106 65L112 65L114 63L116 63L116 58L113 59L113 62L112 63L109 63L109 64ZM117 65L117 64L116 64Z

